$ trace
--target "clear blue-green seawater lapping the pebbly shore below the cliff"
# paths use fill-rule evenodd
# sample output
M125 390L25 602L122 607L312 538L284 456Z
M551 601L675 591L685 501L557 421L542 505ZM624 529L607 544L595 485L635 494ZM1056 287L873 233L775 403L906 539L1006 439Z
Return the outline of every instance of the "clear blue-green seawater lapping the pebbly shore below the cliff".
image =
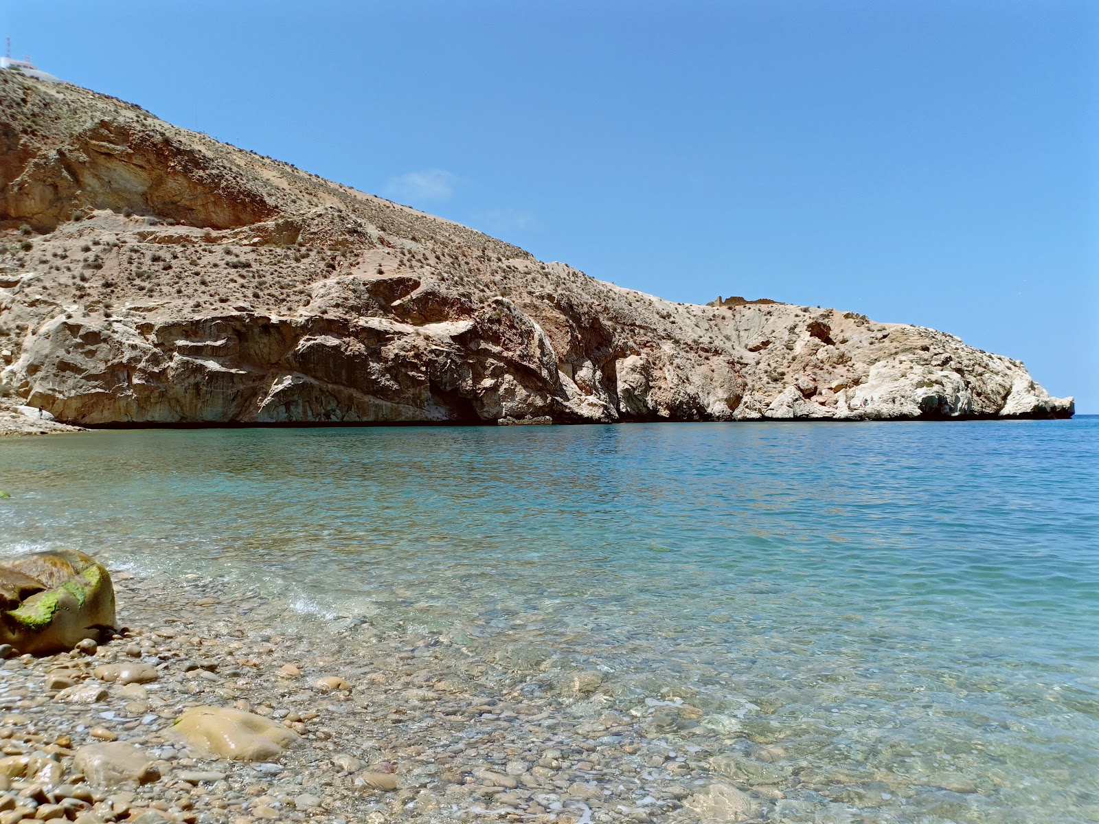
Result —
M1097 417L98 432L0 442L0 554L684 698L835 802L775 821L1099 820Z

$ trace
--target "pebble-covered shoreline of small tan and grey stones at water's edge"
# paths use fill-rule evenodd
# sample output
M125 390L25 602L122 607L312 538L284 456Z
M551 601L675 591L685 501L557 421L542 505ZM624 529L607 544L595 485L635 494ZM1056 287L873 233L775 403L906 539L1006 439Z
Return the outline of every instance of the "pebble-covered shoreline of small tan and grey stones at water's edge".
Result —
M677 751L666 733L701 714L681 699L604 706L597 670L532 697L509 665L411 631L338 616L310 627L285 602L196 576L121 574L115 589L119 637L0 668L0 748L46 769L7 780L0 824L746 821L782 795L711 776L720 737L713 753ZM101 680L109 664L147 665L155 680ZM270 762L210 758L173 730L198 705L300 737ZM141 748L147 782L75 775L80 748L104 741Z

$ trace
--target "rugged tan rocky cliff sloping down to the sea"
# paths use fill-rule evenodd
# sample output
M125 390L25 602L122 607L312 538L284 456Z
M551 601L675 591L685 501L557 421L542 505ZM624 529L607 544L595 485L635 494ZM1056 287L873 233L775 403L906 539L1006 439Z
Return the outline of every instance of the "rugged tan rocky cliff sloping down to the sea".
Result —
M74 424L1063 417L1018 360L673 303L0 73L0 392Z

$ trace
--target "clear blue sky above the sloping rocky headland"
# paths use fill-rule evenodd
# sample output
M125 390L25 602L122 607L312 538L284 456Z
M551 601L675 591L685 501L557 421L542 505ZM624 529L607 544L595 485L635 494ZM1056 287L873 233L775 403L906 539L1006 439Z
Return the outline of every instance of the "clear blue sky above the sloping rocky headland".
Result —
M13 56L665 298L933 326L1099 413L1099 2L14 2Z

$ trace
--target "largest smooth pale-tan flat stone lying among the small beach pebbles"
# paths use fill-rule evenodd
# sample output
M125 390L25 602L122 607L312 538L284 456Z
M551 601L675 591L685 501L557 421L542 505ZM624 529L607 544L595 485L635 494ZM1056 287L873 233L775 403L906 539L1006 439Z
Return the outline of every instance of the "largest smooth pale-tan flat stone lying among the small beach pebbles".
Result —
M298 739L298 734L262 715L229 706L195 706L176 722L188 744L222 758L269 761Z

